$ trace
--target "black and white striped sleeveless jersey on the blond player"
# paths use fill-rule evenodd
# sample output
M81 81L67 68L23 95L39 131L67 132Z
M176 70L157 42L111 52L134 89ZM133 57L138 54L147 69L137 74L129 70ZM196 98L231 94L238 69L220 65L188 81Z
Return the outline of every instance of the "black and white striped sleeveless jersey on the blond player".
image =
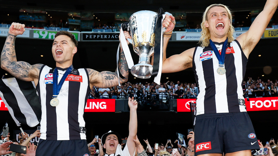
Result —
M218 51L222 43L214 42ZM212 48L196 47L193 67L199 94L196 99L196 115L205 113L246 112L246 106L239 104L243 98L242 81L248 59L237 40L228 43L224 67L226 73L217 73L219 61Z

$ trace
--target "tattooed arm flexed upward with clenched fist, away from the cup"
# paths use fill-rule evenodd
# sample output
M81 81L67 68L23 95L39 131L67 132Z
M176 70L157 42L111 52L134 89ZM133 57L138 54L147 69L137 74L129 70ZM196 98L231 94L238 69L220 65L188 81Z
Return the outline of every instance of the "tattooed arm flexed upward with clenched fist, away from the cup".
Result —
M5 45L1 53L1 68L24 81L34 81L39 78L42 64L30 65L27 62L17 61L15 55L15 36L22 35L25 31L24 24L12 23L8 32ZM37 83L36 83L37 84Z

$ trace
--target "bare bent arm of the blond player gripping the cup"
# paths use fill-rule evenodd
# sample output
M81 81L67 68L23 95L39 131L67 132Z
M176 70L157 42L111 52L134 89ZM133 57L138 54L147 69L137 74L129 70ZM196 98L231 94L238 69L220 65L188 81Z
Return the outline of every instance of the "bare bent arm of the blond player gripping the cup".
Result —
M181 54L166 58L166 48L171 37L171 30L175 27L175 17L166 15L162 26L166 27L166 35L163 35L163 59L162 73L174 73L192 67L192 58L195 48L188 49ZM170 31L170 32L169 32Z

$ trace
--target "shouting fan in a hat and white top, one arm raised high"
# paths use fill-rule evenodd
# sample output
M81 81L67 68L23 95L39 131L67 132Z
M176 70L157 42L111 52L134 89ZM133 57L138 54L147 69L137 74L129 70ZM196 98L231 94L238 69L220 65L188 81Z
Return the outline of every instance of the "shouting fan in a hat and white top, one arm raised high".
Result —
M128 106L130 108L129 116L129 134L124 150L121 148L122 138L119 133L109 131L101 137L103 148L106 149L104 156L134 156L135 142L137 134L137 101L134 97L128 98Z

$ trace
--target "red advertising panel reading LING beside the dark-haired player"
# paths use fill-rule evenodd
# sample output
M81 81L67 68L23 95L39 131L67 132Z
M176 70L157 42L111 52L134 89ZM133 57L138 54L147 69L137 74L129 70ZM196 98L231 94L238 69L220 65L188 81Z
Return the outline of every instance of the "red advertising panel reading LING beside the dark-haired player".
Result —
M84 112L115 112L115 99L88 99Z

